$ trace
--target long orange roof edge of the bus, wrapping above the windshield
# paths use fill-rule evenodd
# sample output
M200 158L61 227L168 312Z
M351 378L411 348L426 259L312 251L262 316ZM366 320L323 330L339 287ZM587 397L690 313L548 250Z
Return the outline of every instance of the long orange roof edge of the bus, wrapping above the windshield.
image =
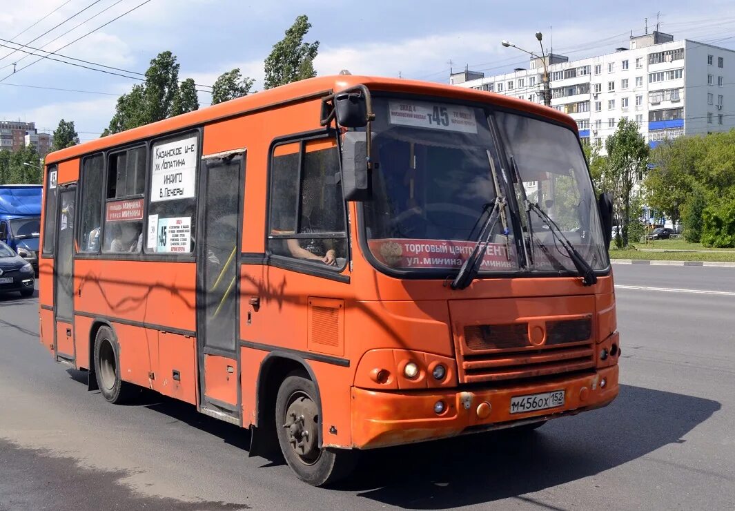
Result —
M503 96L501 94L483 92L465 87L456 87L456 85L442 85L434 82L420 82L417 80L354 75L318 76L316 78L282 85L281 87L262 90L261 92L251 94L250 96L232 99L231 101L225 101L224 103L215 104L211 107L202 108L201 110L177 115L176 117L164 119L163 121L146 124L145 126L129 129L125 132L116 133L115 135L101 137L98 140L91 140L68 149L55 151L46 156L46 164L48 165L49 163L70 160L71 158L82 156L83 154L101 151L114 146L120 146L143 138L156 137L168 132L176 132L191 126L207 124L222 118L241 115L245 112L265 110L291 101L303 101L309 98L325 96L332 92L337 92L353 85L360 84L368 86L370 90L390 90L401 93L444 96L452 99L467 99L469 101L483 101L496 104L500 107L507 107L514 110L521 110L541 115L567 124L575 130L577 129L576 122L570 116L557 110L553 110L552 108L531 103L530 101L523 99L517 99L512 96Z

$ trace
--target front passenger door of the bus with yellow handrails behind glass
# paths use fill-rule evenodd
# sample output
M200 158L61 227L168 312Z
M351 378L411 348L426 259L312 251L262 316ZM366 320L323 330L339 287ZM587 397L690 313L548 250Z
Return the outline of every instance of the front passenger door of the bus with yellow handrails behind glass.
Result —
M197 243L199 409L242 424L240 403L240 239L243 151L203 157Z

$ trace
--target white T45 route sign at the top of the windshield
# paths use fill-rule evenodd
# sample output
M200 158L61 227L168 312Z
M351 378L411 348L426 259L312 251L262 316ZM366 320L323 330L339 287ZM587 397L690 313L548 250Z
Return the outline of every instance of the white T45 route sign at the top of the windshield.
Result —
M450 132L477 133L475 112L470 107L426 101L389 101L390 124Z

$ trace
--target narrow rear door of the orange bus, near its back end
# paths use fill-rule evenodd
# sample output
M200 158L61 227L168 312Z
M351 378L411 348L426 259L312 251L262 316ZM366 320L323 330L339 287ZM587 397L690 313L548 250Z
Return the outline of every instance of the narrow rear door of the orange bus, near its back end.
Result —
M74 209L76 183L59 185L57 240L54 259L54 355L74 361Z

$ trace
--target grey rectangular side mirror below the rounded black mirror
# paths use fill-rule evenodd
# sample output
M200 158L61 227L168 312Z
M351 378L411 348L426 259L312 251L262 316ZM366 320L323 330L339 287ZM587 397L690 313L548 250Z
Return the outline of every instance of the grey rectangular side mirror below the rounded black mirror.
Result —
M367 132L345 132L342 140L342 192L345 201L369 201L373 197Z

